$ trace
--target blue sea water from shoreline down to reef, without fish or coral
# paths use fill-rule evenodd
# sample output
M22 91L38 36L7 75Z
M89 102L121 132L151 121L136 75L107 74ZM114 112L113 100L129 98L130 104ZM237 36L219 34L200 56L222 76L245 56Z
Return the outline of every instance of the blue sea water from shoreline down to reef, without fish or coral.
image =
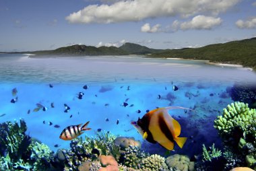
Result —
M181 124L181 137L189 137L183 149L175 146L173 153L191 156L201 151L202 143L221 145L214 119L233 102L226 89L234 83L256 84L256 74L243 67L208 65L205 61L0 54L0 122L24 118L28 135L53 151L69 148L69 141L59 139L65 127L90 121L92 130L84 135L94 136L98 129L110 131L135 137L150 153L164 153L160 145L144 141L131 121L158 107L194 108L169 111ZM179 90L174 91L173 86ZM18 90L15 103L11 103L16 97L11 94L13 88ZM77 98L79 92L84 93L82 99ZM47 110L34 112L38 103ZM68 112L64 112L64 104L70 107Z

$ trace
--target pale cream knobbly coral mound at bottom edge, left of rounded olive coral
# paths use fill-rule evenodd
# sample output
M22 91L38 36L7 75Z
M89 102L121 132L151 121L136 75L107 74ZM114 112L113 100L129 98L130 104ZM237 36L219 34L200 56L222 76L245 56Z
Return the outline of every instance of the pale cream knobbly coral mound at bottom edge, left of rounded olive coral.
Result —
M165 158L157 154L144 158L141 161L141 168L142 170L168 170L168 166L165 164Z

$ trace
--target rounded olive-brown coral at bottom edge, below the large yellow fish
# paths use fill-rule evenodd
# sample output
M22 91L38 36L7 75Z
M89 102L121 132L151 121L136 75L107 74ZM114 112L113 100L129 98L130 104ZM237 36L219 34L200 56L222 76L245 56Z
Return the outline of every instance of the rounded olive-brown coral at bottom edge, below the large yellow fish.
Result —
M193 171L195 163L190 162L187 156L174 154L166 158L166 164L169 168L174 168L181 171Z

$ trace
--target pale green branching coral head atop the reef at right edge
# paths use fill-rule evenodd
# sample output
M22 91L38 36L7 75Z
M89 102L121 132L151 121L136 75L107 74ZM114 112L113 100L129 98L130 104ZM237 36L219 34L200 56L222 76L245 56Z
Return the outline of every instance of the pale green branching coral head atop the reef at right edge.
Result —
M233 137L236 129L242 131L245 140L252 139L256 145L256 109L250 109L248 104L234 102L224 108L222 116L214 121L214 127L224 139Z

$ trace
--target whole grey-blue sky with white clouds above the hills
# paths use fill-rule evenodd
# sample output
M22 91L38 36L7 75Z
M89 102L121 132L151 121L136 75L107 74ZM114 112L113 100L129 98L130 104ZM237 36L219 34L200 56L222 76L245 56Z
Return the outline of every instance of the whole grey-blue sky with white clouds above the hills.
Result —
M0 0L0 51L200 47L256 36L256 0Z

